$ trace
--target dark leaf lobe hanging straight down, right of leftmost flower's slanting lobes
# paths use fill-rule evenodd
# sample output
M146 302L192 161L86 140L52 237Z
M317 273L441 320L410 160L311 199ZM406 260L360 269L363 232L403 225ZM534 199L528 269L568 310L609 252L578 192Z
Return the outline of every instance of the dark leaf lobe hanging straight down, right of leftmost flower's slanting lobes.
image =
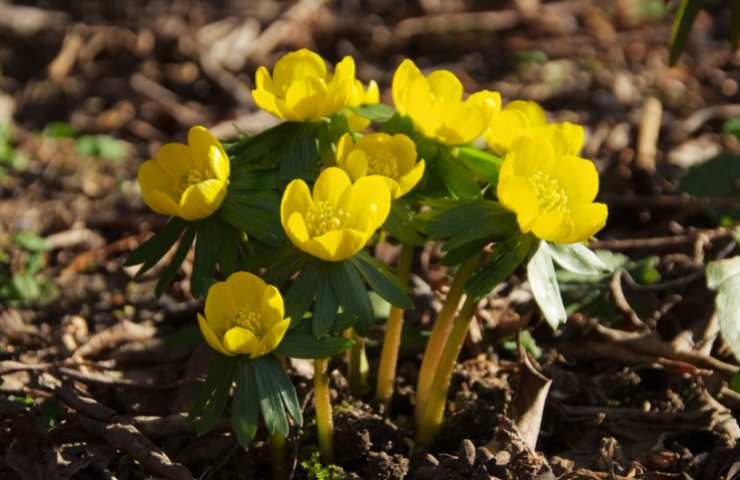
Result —
M216 258L226 232L217 217L208 217L196 224L195 259L190 277L190 293L200 297L213 283Z

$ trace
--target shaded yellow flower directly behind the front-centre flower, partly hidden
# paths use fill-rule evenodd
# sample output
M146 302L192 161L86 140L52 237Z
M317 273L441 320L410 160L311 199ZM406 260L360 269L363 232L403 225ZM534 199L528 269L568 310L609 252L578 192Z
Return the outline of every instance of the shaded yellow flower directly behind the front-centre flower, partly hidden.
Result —
M367 175L380 175L388 183L393 198L406 195L424 175L424 160L416 162L416 145L406 135L371 133L357 143L345 133L337 143L337 165L353 181Z

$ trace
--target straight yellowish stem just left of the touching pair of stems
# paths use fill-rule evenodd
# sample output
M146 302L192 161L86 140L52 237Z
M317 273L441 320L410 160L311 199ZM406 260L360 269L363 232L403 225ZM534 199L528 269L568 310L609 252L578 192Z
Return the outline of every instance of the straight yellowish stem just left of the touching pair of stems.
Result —
M401 254L398 258L398 279L404 285L408 283L413 258L414 247L412 245L401 246ZM386 412L390 409L391 397L393 396L402 330L403 309L391 307L388 320L385 323L383 350L380 353L380 366L378 368L378 385L375 392L375 398L385 406Z

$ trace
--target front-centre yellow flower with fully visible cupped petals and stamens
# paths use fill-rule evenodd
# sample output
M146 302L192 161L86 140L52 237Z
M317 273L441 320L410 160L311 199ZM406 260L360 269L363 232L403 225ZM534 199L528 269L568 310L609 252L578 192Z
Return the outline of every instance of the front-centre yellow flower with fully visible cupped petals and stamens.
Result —
M344 170L325 169L313 187L293 180L285 189L280 220L299 249L328 262L359 252L388 217L391 204L386 181L371 175L354 184Z

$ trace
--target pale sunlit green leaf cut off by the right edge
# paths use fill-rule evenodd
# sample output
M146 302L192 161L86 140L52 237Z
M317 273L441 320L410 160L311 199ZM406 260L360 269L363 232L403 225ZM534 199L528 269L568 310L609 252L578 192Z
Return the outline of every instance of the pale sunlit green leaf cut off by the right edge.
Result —
M740 257L709 262L706 275L707 287L717 291L714 306L719 331L740 360Z

